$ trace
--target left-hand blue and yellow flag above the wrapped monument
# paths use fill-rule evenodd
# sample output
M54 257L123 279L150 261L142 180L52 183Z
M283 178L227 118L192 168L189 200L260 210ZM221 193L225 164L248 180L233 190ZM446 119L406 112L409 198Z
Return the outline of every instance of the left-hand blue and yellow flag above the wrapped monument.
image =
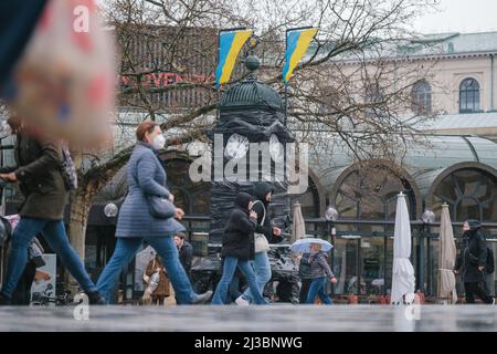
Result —
M218 87L230 81L236 58L252 33L252 30L233 30L220 33L219 64L215 70L215 83Z

